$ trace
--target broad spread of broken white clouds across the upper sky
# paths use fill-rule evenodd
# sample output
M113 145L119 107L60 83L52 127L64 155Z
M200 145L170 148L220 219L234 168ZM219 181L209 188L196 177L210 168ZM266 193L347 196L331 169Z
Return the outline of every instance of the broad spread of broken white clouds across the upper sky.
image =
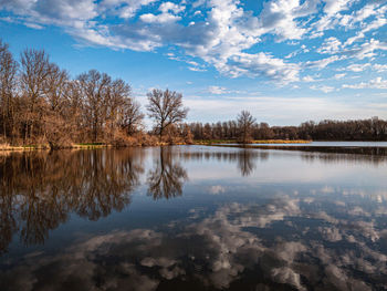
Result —
M385 1L359 7L355 3L355 0L270 0L263 2L261 11L252 11L239 0L192 3L0 0L0 9L9 12L3 21L11 20L36 29L62 27L83 44L135 51L177 46L181 53L201 59L221 74L263 77L284 85L300 81L300 73L304 70L324 70L338 60L373 59L387 50L378 34L369 38L372 32L387 23ZM282 43L303 42L337 28L345 28L349 35L344 40L339 34L331 35L315 49L320 54L331 54L330 58L295 60L299 54L312 50L303 43L285 56L262 50L270 39ZM203 66L188 64L187 67L206 71Z

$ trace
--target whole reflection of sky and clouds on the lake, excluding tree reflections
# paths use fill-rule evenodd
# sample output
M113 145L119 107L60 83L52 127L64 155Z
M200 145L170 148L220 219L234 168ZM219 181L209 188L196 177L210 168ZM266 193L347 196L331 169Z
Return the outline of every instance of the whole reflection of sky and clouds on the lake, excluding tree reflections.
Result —
M158 156L146 150L145 175ZM244 282L254 290L386 284L386 163L311 162L271 150L250 156L253 170L242 177L238 158L174 153L188 176L181 196L153 200L140 185L121 212L98 221L73 215L44 246L21 251L13 243L0 261L0 289L32 290L40 282L42 289L97 290L96 278L102 290L168 290L167 282L181 290L189 283L220 289Z

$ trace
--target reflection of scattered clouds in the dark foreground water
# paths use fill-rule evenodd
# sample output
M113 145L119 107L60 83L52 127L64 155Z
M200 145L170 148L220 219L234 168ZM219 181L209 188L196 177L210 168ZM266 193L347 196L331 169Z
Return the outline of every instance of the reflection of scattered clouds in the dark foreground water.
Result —
M102 288L121 290L129 284L134 290L156 290L172 279L180 287L194 281L229 288L251 273L263 274L253 283L263 281L266 288L370 290L370 279L374 288L383 287L387 256L379 249L387 232L367 215L359 217L343 207L327 214L318 202L304 200L283 196L265 204L234 202L211 215L200 215L199 209L198 216L161 230L94 235L55 254L32 253L2 280L29 290L36 273L50 267L50 280L44 276L40 280L88 290L95 287L95 276L101 276Z

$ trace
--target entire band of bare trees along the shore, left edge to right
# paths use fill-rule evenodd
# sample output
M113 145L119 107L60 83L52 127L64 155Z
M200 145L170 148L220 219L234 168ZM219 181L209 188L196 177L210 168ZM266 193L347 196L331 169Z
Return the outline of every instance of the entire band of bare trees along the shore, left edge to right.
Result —
M155 89L143 111L128 83L96 70L77 75L50 61L44 50L25 49L19 60L0 40L0 147L74 145L142 146L195 141L255 139L387 141L387 122L305 122L300 126L258 123L248 111L217 123L185 122L182 94ZM148 129L145 116L154 122Z

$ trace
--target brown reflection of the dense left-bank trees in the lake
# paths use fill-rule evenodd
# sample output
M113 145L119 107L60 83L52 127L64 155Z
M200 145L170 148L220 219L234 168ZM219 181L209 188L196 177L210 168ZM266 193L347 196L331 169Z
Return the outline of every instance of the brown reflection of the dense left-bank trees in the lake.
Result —
M49 230L76 212L91 220L121 211L144 173L142 152L32 152L2 157L0 252L20 230L25 245L43 243Z

